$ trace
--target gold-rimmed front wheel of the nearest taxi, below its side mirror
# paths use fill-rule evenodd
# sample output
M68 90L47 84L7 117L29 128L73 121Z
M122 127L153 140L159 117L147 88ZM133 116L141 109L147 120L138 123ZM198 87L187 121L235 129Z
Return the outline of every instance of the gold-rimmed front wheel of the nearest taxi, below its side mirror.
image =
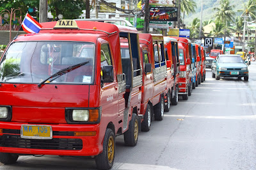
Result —
M103 141L103 151L95 157L97 169L111 169L114 159L115 135L113 130L107 128Z

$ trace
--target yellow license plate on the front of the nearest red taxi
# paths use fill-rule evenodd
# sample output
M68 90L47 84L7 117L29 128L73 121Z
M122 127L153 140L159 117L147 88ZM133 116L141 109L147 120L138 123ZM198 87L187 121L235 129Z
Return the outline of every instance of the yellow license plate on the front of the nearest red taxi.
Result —
M21 125L20 137L25 139L52 139L49 125Z

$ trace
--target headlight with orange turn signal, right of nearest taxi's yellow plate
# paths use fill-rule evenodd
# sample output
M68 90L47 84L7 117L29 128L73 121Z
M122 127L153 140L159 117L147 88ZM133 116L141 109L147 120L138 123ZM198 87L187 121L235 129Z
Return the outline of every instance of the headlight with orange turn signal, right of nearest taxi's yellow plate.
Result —
M67 123L99 123L101 107L99 108L66 108Z

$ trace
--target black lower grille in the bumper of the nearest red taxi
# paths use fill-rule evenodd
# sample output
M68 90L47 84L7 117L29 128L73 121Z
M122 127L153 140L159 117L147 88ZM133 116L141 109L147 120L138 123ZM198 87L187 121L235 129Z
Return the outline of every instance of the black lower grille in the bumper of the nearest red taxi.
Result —
M82 139L23 139L20 135L4 134L0 137L0 146L9 148L29 148L42 150L82 150Z

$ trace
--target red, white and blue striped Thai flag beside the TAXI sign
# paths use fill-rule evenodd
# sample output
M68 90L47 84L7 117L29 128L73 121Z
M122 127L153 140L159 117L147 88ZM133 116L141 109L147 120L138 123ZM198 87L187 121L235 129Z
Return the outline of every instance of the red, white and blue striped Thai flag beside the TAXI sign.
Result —
M26 33L39 33L42 28L39 22L33 19L28 13L26 14L21 26Z

